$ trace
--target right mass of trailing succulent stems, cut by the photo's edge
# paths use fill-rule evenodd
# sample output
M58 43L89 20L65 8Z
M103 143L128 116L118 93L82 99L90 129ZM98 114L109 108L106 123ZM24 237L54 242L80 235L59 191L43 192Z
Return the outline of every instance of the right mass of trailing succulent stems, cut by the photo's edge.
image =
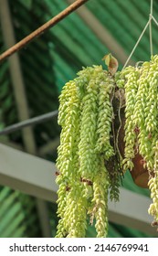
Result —
M123 169L132 171L132 159L142 155L153 199L148 212L158 221L158 56L141 67L121 70L117 80L124 88L126 101Z

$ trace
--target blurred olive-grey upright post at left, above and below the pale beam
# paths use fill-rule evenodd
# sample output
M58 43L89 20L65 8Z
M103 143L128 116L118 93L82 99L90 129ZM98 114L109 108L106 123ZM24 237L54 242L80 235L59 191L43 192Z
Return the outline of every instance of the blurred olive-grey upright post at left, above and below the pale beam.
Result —
M0 19L5 41L5 47L11 48L16 44L14 34L14 27L12 25L9 5L7 0L0 0ZM13 83L13 89L16 97L16 106L18 111L19 121L29 119L28 105L26 101L26 91L22 71L20 67L20 60L18 54L14 54L8 59L10 75ZM3 65L3 64L2 64ZM26 152L36 155L36 143L32 127L27 127L22 130L23 141L25 144ZM16 161L16 159L15 159ZM42 229L43 237L50 237L50 225L47 214L47 203L42 199L36 199L37 211Z

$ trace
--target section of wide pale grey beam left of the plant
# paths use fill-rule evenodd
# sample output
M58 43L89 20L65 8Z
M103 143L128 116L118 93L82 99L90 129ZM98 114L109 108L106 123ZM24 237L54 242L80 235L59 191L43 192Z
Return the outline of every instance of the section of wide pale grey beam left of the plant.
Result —
M0 144L0 184L28 195L56 201L55 165Z

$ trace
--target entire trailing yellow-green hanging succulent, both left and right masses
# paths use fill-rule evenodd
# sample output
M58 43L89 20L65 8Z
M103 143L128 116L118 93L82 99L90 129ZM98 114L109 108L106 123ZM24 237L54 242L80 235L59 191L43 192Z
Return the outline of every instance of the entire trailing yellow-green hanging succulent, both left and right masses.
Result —
M121 173L132 171L138 154L149 173L149 213L158 221L158 56L117 73L117 60L104 59L109 71L82 69L59 96L57 237L85 237L94 220L97 237L107 236L109 192L119 200Z

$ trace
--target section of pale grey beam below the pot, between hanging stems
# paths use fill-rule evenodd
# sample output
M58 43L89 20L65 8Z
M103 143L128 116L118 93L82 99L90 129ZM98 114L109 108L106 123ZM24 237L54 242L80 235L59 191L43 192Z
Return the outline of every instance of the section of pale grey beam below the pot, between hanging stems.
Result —
M156 229L151 226L153 218L148 214L151 203L149 197L121 188L119 203L110 203L109 219L111 222L158 236Z

